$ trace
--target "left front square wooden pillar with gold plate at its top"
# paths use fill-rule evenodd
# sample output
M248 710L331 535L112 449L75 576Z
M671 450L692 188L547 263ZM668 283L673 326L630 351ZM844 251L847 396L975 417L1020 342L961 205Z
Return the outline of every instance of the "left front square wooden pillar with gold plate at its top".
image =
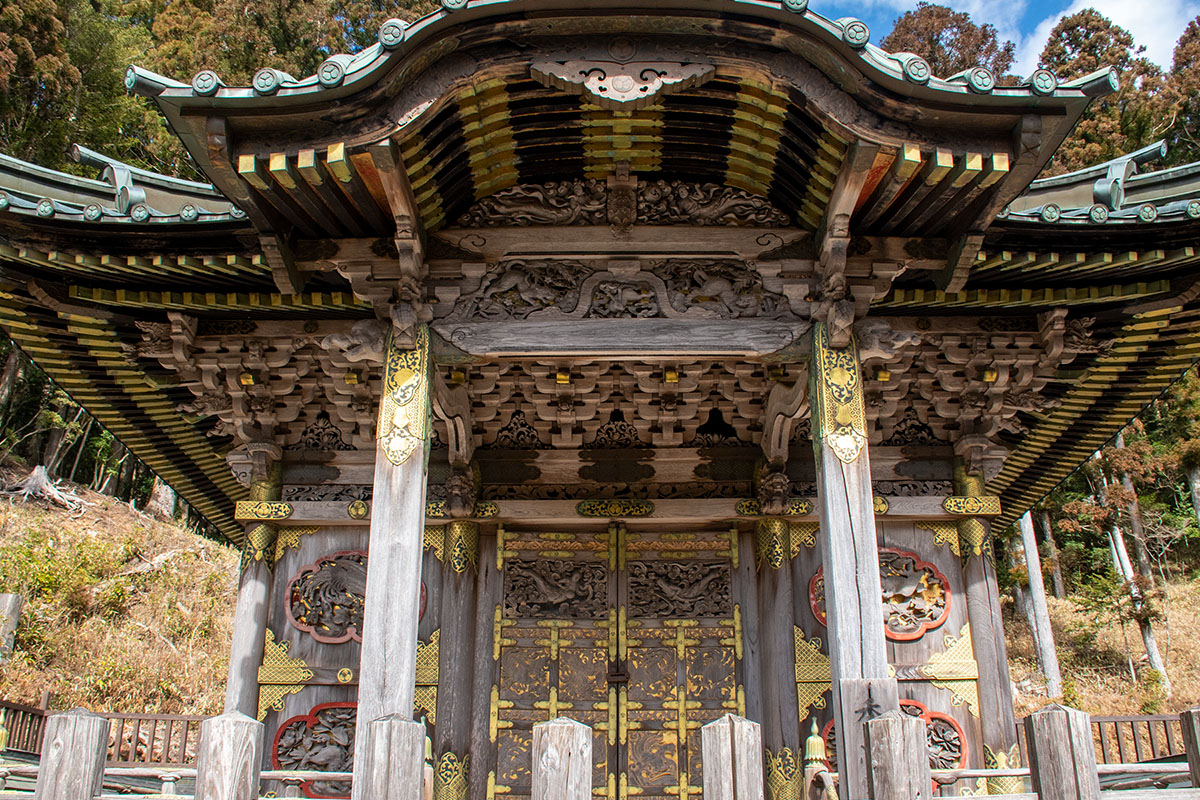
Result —
M430 437L428 329L419 326L415 339L413 349L401 350L389 337L384 356L359 667L360 729L383 717L413 718ZM360 736L355 745L355 800L364 800L368 784L364 742ZM420 772L406 780L419 783Z

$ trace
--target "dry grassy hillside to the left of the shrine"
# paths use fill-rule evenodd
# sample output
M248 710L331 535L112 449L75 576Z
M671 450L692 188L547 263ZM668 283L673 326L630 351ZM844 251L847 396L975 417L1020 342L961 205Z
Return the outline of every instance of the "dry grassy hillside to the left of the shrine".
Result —
M80 489L82 515L0 501L0 591L25 597L0 697L220 712L236 554Z

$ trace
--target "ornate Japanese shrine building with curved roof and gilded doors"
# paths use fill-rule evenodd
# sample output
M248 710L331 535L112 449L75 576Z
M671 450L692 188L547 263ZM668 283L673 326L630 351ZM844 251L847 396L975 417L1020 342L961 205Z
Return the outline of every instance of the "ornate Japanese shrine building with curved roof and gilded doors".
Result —
M989 528L1195 360L1200 169L1036 181L1114 72L869 37L443 0L311 77L131 68L211 184L0 158L0 327L244 549L269 764L414 715L437 798L522 798L565 715L599 796L686 800L734 711L770 798L814 724L859 798L896 708L1019 760Z

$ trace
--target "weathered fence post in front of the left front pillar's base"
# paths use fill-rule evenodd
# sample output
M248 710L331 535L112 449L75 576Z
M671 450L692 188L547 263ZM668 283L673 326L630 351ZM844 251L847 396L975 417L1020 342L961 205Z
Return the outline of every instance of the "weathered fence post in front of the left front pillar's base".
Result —
M359 728L355 800L421 800L425 796L425 726L402 714Z

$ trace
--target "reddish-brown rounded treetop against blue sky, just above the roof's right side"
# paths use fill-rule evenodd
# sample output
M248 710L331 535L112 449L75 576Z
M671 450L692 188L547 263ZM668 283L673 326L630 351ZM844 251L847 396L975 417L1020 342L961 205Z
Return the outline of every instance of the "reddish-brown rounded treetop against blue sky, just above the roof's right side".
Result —
M1012 42L1001 43L995 26L976 25L966 12L924 1L898 17L880 46L892 53L916 53L943 78L971 67L986 67L1001 78L1013 66L1015 52Z

